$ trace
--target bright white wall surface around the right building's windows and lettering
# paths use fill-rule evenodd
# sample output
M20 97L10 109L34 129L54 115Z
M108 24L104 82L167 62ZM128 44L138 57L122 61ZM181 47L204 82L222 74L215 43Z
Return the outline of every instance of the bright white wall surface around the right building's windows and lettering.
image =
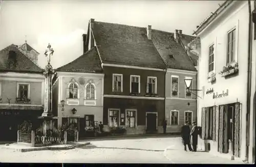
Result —
M226 66L227 57L227 33L236 27L236 62L239 65L239 74L230 78L221 77L219 72ZM198 125L201 126L202 107L242 103L241 112L241 157L245 157L246 136L246 88L247 88L247 57L248 57L248 3L236 2L219 19L212 22L204 32L200 34L201 55L199 58L198 89L202 99L198 99ZM215 73L216 82L207 82L209 46L215 44ZM222 93L228 89L228 96L213 99L212 95L206 95L207 89L213 88L214 92ZM218 145L217 145L218 146Z

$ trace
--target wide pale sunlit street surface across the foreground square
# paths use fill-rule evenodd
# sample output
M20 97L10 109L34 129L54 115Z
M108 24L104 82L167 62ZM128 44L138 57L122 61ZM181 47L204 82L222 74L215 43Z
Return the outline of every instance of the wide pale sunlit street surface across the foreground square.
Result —
M185 152L180 137L133 137L91 140L73 150L15 152L0 150L1 162L64 163L238 163L206 152Z

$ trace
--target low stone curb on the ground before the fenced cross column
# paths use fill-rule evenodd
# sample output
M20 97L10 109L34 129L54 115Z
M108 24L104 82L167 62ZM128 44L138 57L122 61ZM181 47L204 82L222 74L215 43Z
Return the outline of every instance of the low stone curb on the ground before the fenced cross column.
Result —
M84 143L84 144L78 144L76 146L67 146L67 147L38 147L38 148L26 148L26 149L17 149L17 148L12 148L12 147L0 147L0 149L7 149L7 150L14 150L17 152L29 152L29 151L44 151L44 150L70 150L74 148L79 148L83 146L90 145L90 142Z

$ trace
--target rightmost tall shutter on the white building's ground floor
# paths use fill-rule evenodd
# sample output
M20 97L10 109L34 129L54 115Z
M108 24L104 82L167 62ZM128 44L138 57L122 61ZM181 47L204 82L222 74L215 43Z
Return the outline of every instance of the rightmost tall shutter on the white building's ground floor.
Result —
M235 104L234 111L234 156L239 157L240 154L240 103Z

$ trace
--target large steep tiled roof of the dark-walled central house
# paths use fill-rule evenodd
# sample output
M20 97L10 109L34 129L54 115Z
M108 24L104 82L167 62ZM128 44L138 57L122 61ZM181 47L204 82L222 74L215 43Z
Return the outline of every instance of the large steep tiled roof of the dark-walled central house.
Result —
M95 21L93 34L102 63L166 68L145 27Z

